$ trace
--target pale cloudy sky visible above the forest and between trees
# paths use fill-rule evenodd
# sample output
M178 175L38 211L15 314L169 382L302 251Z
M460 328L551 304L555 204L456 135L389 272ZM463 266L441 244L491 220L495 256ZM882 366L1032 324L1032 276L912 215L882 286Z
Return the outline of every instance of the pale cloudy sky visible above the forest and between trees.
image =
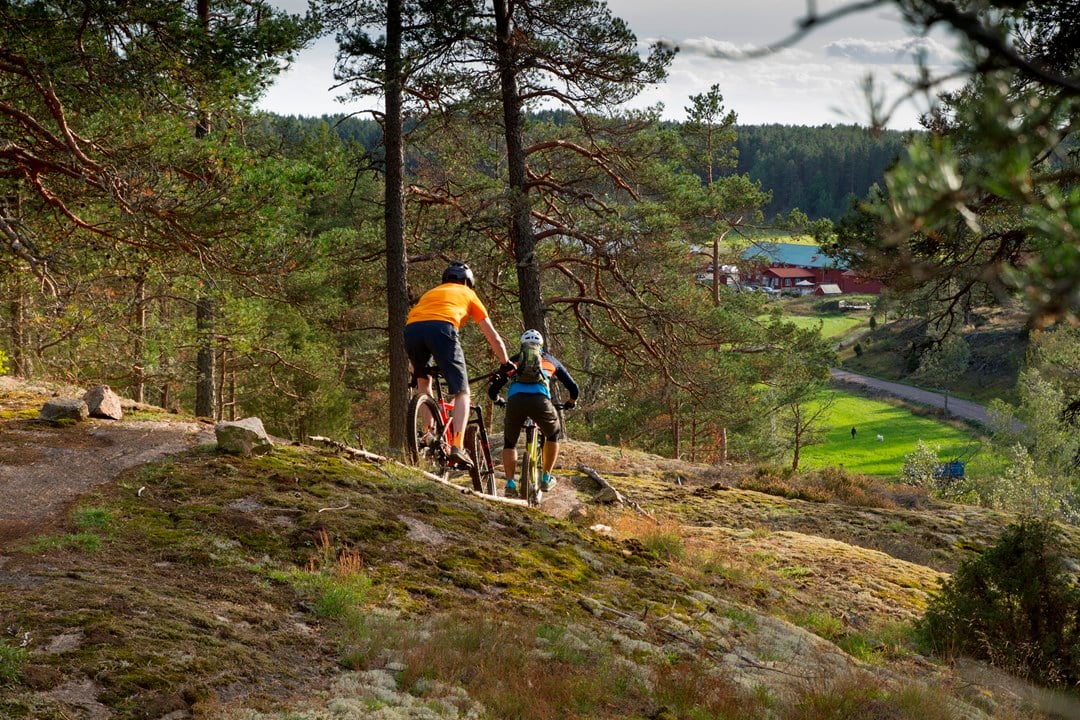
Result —
M819 14L854 0L818 0ZM306 0L271 0L300 13ZM724 105L734 110L739 124L783 125L859 124L869 122L862 90L868 73L885 93L887 105L900 97L912 77L913 57L922 52L941 69L957 58L949 37L913 36L889 9L847 15L820 26L794 45L756 59L726 59L754 47L786 39L806 14L804 0L608 0L611 14L624 19L637 36L642 52L657 40L679 47L660 85L650 86L632 107L663 105L669 120L685 119L692 95L719 86ZM362 104L337 101L334 84L336 43L323 38L301 52L293 67L279 77L258 107L279 114L321 116L363 110ZM905 103L892 113L889 127L918 126L926 101Z

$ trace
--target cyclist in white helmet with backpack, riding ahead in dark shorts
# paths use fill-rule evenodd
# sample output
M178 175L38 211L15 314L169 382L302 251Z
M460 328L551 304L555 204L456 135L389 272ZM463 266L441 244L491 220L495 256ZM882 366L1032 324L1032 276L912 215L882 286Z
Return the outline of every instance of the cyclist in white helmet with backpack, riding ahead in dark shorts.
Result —
M577 404L580 392L578 383L570 377L566 367L554 355L544 352L543 336L539 330L525 330L521 340L521 352L510 358L514 364L514 370L509 377L507 375L497 377L487 389L488 397L498 403L499 391L508 381L510 382L502 425L502 472L507 476L508 495L517 492L517 483L514 480L517 471L517 438L522 434L526 418L532 419L545 440L541 459L543 476L540 478L540 490L548 492L555 487L556 480L552 477L551 471L558 458L558 441L563 437L563 427L558 421L558 412L551 402L551 379L556 378L570 394L570 399L564 403L567 409Z

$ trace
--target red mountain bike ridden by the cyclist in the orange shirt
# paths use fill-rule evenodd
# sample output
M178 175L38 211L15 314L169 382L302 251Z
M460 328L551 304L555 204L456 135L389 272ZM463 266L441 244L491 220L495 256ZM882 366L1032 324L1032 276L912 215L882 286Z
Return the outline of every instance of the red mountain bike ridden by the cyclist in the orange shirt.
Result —
M433 468L436 475L447 475L458 468L450 460L450 415L454 403L443 398L443 386L438 381L442 372L437 367L427 368L431 379L430 394L417 393L409 400L406 416L405 440L408 445L409 458L421 467ZM487 380L494 372L470 378L469 383ZM484 409L478 405L469 408L469 421L465 423L465 452L472 459L469 478L473 490L485 494L496 494L495 465L491 462L491 446L487 438L487 426L484 424Z

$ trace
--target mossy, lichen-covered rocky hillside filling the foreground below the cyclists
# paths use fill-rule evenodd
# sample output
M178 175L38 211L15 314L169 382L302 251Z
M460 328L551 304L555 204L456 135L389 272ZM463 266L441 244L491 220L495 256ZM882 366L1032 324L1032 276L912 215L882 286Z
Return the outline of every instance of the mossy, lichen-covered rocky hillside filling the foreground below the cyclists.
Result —
M0 391L0 434L99 437L30 419L44 399ZM119 468L0 539L0 717L1039 717L912 640L1008 517L835 473L562 461L565 517L308 446ZM579 463L639 510L593 502Z

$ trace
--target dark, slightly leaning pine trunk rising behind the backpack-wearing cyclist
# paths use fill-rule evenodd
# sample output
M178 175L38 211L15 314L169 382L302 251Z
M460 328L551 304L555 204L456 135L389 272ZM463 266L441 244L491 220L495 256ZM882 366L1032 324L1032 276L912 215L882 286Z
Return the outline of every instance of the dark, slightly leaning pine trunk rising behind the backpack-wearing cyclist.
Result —
M507 0L494 0L496 55L502 92L502 119L507 140L507 172L510 180L510 240L517 266L518 304L526 328L540 330L544 337L543 297L540 294L540 263L536 254L525 159L525 113L517 91L516 53L513 18Z

